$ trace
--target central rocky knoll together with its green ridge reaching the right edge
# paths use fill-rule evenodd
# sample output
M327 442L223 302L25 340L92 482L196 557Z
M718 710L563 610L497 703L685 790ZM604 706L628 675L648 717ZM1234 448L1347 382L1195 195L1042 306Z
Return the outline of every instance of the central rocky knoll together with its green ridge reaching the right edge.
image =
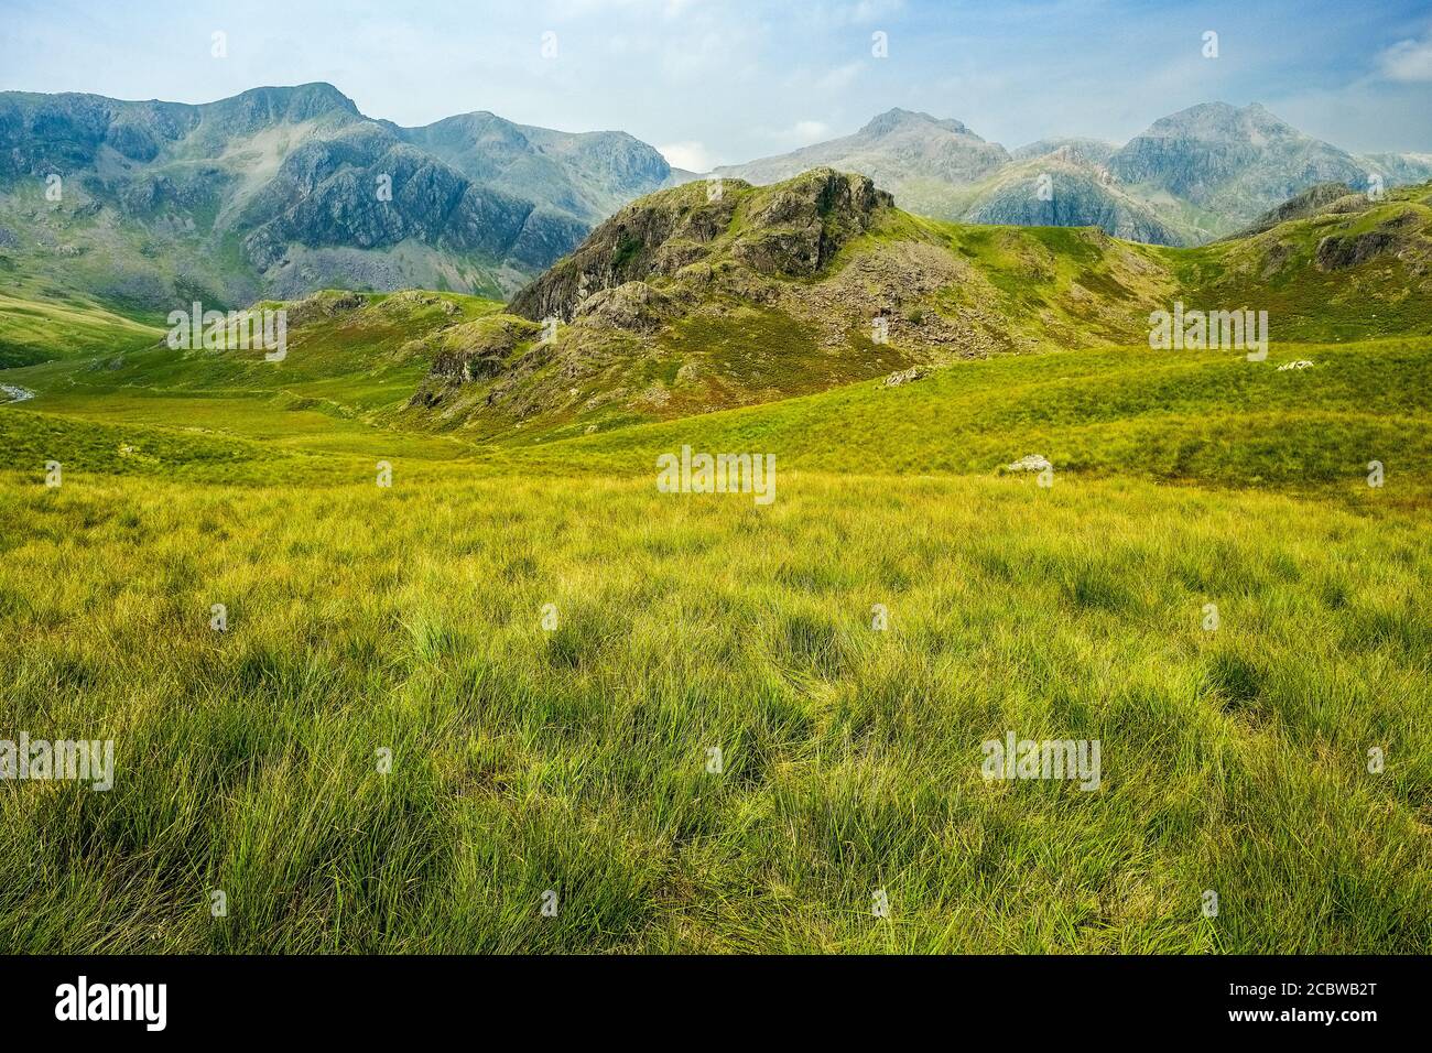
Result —
M1432 335L1432 186L1197 249L905 213L825 170L650 195L445 341L405 414L584 436L1014 352L1143 345L1153 311L1262 311L1274 348ZM526 319L526 321L523 321ZM540 322L560 319L554 332ZM1285 360L1286 361L1286 360Z

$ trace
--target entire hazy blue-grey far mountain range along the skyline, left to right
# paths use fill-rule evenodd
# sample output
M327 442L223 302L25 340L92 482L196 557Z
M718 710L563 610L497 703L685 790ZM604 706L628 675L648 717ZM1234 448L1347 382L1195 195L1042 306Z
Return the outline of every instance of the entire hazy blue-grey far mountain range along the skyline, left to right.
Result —
M402 128L325 83L205 105L0 93L0 288L120 309L241 307L321 288L507 298L627 202L693 179L855 172L906 212L1095 226L1197 245L1320 183L1432 178L1432 155L1352 155L1259 105L1194 106L1128 143L1015 150L894 109L859 132L706 176L624 132L493 113Z

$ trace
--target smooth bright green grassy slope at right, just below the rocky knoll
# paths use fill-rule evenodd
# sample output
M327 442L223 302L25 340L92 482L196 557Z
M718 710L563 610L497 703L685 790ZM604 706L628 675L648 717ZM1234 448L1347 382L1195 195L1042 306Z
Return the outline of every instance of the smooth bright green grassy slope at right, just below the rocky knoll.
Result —
M1292 361L1313 365L1277 368ZM802 471L990 476L1040 454L1080 476L1359 494L1368 461L1380 460L1408 473L1408 486L1428 493L1429 415L1428 338L1299 345L1266 362L1147 348L1050 352L543 443L521 463L623 471L690 444L770 451Z

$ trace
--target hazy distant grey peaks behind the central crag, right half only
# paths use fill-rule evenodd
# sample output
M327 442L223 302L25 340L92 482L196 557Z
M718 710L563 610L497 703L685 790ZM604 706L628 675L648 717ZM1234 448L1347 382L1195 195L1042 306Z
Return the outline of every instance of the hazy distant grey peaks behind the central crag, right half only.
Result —
M1432 178L1432 155L1353 155L1253 103L1201 103L1124 145L1045 139L1014 152L958 120L894 109L853 135L715 169L768 183L826 165L861 172L902 208L937 219L1098 226L1158 245L1233 234L1322 182L1369 189Z

